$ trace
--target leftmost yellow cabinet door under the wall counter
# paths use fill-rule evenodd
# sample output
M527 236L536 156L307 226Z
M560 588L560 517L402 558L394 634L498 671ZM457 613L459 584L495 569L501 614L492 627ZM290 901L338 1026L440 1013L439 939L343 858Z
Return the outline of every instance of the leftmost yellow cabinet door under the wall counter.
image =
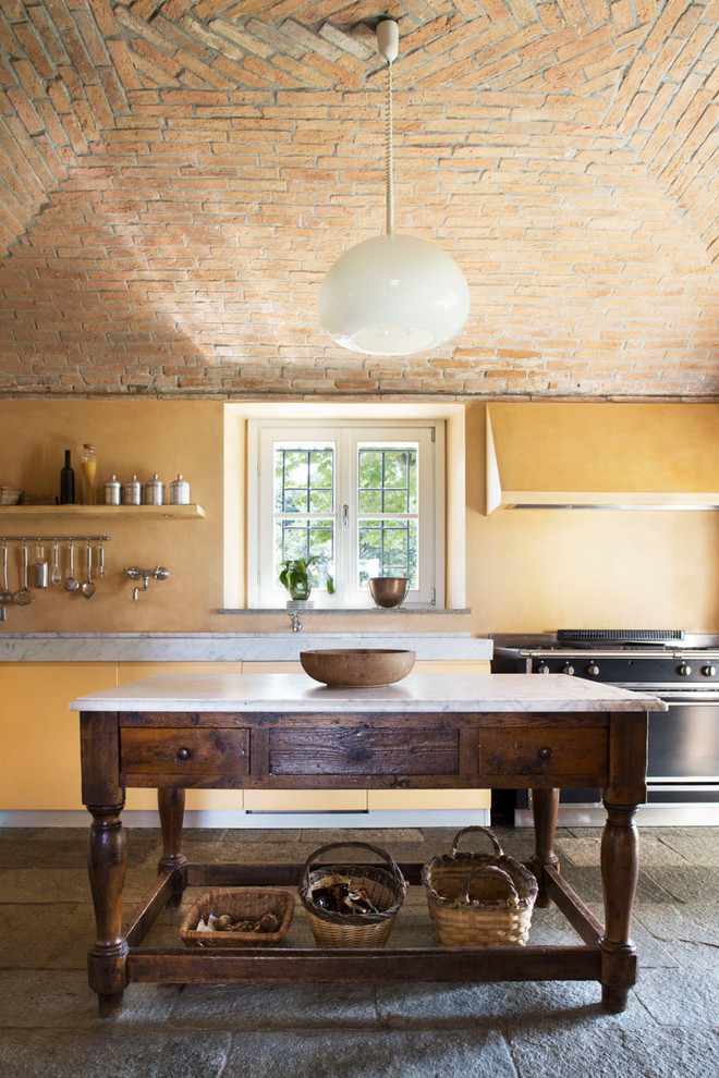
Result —
M0 809L82 809L77 696L115 685L114 663L0 664Z

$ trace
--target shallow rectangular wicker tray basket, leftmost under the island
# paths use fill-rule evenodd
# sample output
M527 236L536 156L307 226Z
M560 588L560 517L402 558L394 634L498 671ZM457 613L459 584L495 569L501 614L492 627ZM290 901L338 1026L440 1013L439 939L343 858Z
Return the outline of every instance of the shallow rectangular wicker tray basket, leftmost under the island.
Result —
M271 947L280 943L294 912L290 891L265 891L261 887L233 887L208 891L195 902L180 926L180 936L188 947ZM229 914L233 921L257 921L264 914L275 914L277 932L198 932L197 923L210 914Z

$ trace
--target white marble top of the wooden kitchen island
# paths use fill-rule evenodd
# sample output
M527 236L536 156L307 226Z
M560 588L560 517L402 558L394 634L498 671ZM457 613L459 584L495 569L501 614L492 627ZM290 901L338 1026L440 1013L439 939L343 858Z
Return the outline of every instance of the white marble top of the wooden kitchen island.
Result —
M644 693L565 674L415 674L382 688L327 688L306 674L156 674L82 696L71 711L666 711Z

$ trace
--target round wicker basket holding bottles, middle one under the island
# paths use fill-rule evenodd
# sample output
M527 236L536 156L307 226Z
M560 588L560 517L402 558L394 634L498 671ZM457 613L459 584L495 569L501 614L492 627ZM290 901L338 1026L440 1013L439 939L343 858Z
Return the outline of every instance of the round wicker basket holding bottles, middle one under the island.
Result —
M330 849L338 848L369 850L385 863L316 863ZM378 912L338 914L313 902L310 895L315 887L328 886L340 879L351 880L352 890L363 887ZM383 947L404 902L406 887L399 866L379 846L366 842L330 843L320 846L305 861L300 880L300 898L318 947Z

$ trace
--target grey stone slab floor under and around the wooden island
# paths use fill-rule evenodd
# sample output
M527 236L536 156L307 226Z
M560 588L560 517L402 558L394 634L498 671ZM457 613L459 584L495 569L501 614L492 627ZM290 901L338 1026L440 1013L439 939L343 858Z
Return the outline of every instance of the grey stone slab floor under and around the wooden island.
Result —
M526 857L528 831L495 829ZM444 853L448 829L342 832L397 860ZM337 831L187 831L193 858L303 860ZM562 872L601 918L600 832L562 829ZM2 1078L717 1078L719 829L646 829L634 936L641 971L630 1007L607 1015L595 983L132 984L125 1009L96 1016L86 982L94 920L87 832L0 830ZM127 897L151 882L159 833L129 832ZM183 908L199 892L188 893ZM176 941L168 910L154 941ZM298 907L288 943L307 944ZM430 941L410 889L391 942ZM532 942L576 943L556 909L536 910Z

